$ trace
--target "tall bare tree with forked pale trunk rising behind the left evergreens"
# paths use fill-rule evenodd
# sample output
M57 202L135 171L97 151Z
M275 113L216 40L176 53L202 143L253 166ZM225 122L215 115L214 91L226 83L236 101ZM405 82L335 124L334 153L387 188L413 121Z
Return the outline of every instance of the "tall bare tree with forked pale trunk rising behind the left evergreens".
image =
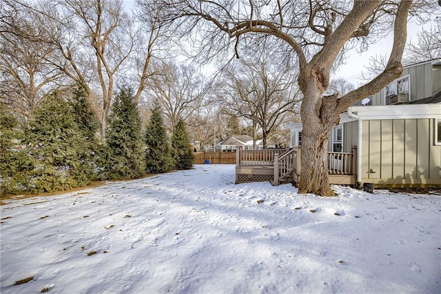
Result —
M60 38L62 41L60 39L54 41L58 42L63 56L81 80L86 79L83 76L85 73L77 70L81 59L75 57L83 56L84 53L88 56L88 63L93 66L103 98L101 117L101 138L103 138L114 94L115 75L124 70L125 61L134 50L134 19L123 10L121 0L63 0L58 3L64 10L61 11L63 19L56 21L68 25L71 30L68 35L58 36L63 38ZM72 34L76 36L74 42L82 43L81 48L74 48L77 52L75 57L72 56L70 40ZM90 83L85 84L90 85Z

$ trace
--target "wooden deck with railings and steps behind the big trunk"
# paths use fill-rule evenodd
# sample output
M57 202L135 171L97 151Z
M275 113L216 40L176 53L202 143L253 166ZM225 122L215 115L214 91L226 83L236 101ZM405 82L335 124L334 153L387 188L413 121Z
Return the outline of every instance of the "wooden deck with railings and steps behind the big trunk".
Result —
M300 148L237 150L236 184L271 182L273 185L300 181ZM329 184L357 184L356 148L351 153L328 153Z

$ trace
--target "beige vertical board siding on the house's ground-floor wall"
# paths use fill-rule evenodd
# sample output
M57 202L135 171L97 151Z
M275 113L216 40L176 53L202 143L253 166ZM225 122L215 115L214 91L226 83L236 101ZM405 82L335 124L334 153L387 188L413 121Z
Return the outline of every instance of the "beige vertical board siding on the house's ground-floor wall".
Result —
M377 186L441 185L435 119L362 121L362 182Z

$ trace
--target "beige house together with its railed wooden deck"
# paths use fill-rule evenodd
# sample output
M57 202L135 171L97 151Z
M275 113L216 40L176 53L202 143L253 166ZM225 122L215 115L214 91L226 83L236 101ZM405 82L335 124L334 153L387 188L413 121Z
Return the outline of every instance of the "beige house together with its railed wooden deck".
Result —
M298 183L302 124L287 128L289 150L253 155L262 160L237 154L236 183ZM441 187L441 59L404 67L400 78L342 113L328 166L331 184Z

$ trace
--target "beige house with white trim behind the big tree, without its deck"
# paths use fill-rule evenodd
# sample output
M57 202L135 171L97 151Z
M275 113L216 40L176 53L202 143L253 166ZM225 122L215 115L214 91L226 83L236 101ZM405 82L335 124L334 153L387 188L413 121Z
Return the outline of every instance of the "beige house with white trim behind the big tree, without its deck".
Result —
M364 99L363 105L340 115L328 146L332 153L356 148L356 182L440 187L441 59L404 67L402 77ZM301 146L302 124L288 128L290 147Z

